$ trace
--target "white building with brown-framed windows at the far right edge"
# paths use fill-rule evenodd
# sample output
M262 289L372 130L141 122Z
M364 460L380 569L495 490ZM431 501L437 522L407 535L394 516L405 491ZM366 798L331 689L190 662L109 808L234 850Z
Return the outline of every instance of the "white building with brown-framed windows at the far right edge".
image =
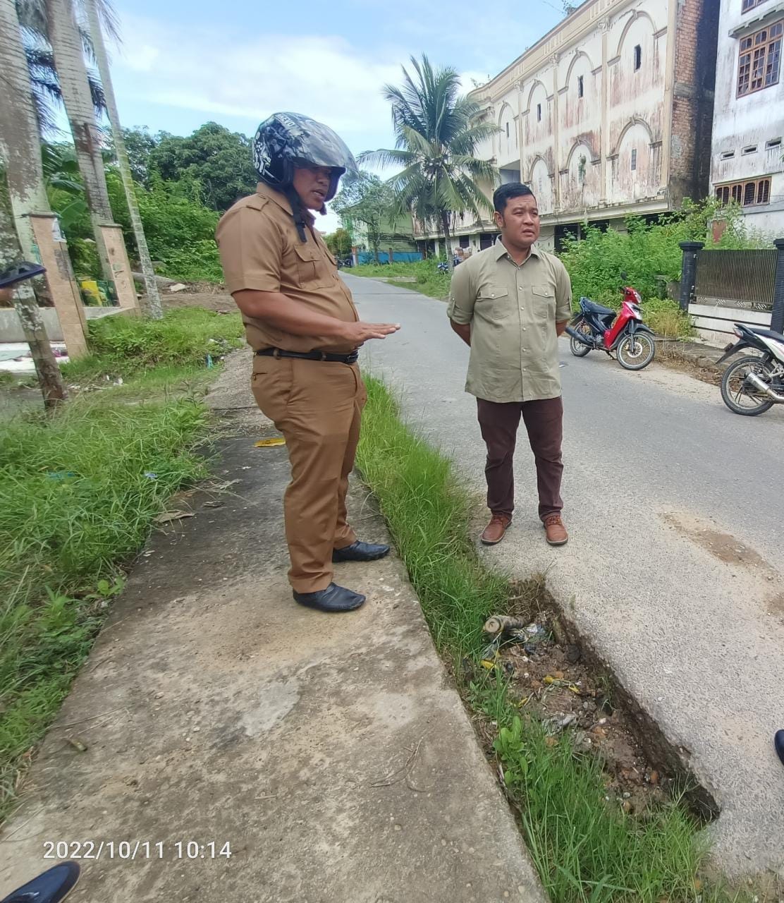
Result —
M711 188L752 229L784 236L781 0L721 0Z

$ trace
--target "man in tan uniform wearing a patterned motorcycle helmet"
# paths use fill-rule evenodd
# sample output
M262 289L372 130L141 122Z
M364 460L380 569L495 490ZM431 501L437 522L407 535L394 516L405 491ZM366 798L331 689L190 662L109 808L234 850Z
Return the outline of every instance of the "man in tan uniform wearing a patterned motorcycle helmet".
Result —
M358 541L346 521L348 475L366 394L357 349L400 327L364 323L337 275L310 210L326 213L356 163L327 126L278 113L254 138L256 193L217 227L226 286L255 351L256 404L286 439L291 483L284 511L294 599L320 611L359 608L364 596L332 582L332 563L373 561L387 545Z

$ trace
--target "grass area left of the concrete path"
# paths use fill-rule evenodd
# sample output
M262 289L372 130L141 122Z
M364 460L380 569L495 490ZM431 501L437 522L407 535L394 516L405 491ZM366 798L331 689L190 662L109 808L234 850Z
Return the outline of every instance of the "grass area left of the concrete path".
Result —
M205 349L238 335L228 317L193 309L95 326L69 382L106 387L0 434L0 822L122 589L122 565L171 494L206 474L194 446L208 411L189 388L217 373ZM104 374L126 378L107 385Z

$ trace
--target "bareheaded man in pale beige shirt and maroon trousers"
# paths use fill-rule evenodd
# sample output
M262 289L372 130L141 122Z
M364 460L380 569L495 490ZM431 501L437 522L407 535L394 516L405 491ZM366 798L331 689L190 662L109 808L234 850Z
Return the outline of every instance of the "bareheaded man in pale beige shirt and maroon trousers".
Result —
M466 392L476 396L487 446L492 517L481 539L484 545L500 543L512 524L514 447L522 417L536 461L545 535L550 545L564 545L558 336L571 317L572 288L558 257L534 244L540 219L530 188L502 185L493 207L501 237L457 267L447 310L452 329L471 347Z

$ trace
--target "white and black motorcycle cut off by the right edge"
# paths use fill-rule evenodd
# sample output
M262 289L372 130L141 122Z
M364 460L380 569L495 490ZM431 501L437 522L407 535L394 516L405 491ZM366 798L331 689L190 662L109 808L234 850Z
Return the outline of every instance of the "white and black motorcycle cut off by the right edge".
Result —
M784 335L742 323L735 323L733 332L738 341L727 345L717 365L742 349L753 349L759 354L739 358L724 370L724 404L735 414L747 417L784 404Z

